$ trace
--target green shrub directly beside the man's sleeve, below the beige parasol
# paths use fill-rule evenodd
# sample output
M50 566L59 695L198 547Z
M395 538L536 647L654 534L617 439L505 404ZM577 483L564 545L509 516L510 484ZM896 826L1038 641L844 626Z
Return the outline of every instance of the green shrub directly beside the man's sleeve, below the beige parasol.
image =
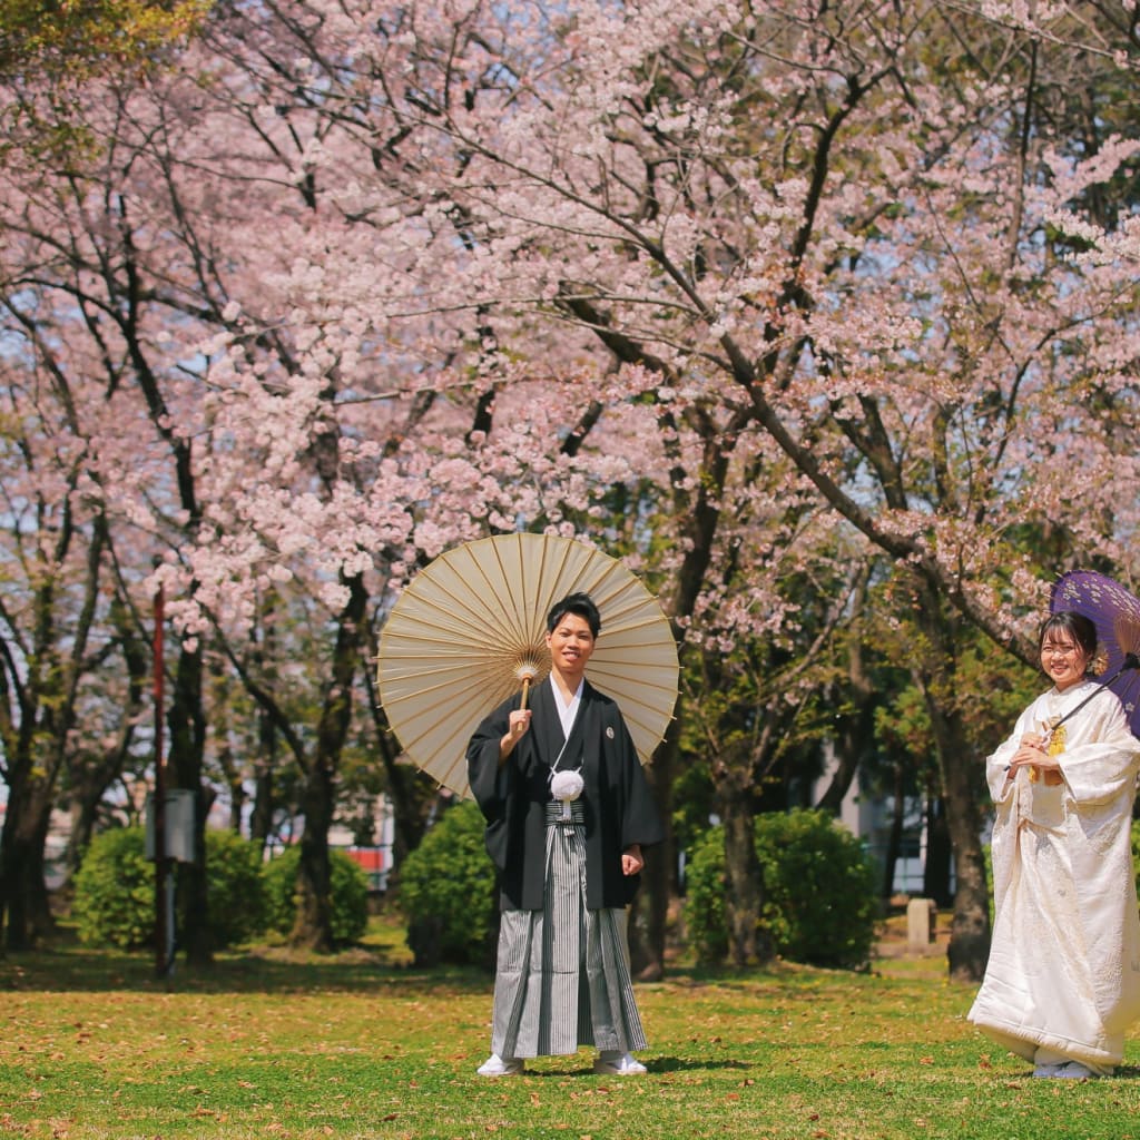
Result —
M498 894L483 829L475 804L456 804L404 861L400 905L417 966L495 961Z

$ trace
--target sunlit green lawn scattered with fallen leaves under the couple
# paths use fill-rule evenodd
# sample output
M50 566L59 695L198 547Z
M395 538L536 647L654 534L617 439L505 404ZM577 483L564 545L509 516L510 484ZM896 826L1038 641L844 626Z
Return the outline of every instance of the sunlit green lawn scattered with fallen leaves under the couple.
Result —
M0 1137L1140 1140L1140 1048L1113 1080L1034 1081L940 958L678 971L638 986L646 1076L583 1050L498 1081L474 1073L490 977L405 959L251 953L169 985L146 955L0 961Z

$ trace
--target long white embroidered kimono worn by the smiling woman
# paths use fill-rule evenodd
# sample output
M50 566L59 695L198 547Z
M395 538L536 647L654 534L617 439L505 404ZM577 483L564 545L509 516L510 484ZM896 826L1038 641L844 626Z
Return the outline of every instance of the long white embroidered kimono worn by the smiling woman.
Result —
M1140 741L1104 690L1057 730L1062 782L1007 771L1023 735L1041 732L1097 686L1039 697L986 760L996 805L995 921L969 1019L1039 1064L1076 1060L1110 1073L1140 1018L1140 919L1130 832ZM1040 1050L1040 1052L1039 1052Z

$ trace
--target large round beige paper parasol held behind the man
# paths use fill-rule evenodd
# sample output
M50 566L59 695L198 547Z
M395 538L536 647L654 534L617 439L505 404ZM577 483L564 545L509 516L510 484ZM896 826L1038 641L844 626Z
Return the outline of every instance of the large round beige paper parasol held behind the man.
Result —
M400 595L380 638L388 723L412 760L469 795L479 722L551 668L546 614L584 591L602 614L586 676L621 708L642 763L677 699L677 645L657 600L616 559L571 538L499 535L447 551Z

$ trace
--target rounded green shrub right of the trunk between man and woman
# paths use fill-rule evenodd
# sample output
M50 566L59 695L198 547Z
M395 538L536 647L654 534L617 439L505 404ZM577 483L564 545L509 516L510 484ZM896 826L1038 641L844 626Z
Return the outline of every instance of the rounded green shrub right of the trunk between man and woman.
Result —
M756 821L756 854L779 953L813 966L866 966L879 899L860 840L826 812L769 813Z

